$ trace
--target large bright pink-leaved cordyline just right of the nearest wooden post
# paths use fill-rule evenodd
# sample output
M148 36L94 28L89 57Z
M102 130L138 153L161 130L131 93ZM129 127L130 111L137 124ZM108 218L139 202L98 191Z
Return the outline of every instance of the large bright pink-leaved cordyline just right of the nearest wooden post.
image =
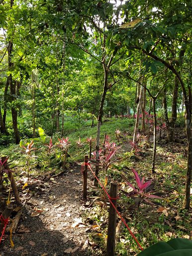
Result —
M147 181L147 182L144 182L144 177L141 179L138 175L138 173L132 169L132 172L134 174L134 178L135 178L135 182L136 182L136 185L137 185L137 188L135 188L131 183L129 183L128 181L127 184L129 187L131 187L133 189L133 191L127 193L127 196L130 196L131 198L134 199L135 201L135 204L137 206L139 206L139 204L142 202L142 201L145 201L149 204L153 204L149 199L150 198L158 198L158 199L163 199L163 197L161 196L158 196L157 194L153 193L151 194L152 192L152 189L154 188L155 184L152 183L152 181ZM125 177L124 177L125 179Z

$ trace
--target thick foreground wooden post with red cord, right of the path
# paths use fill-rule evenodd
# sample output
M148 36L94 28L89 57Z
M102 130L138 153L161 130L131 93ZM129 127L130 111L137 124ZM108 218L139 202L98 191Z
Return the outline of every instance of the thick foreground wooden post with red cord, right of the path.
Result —
M118 196L118 185L117 183L111 183L110 197L115 207L117 208L117 196ZM107 256L115 256L115 242L116 242L116 224L117 224L117 213L112 203L110 203L109 209L109 224L107 233Z

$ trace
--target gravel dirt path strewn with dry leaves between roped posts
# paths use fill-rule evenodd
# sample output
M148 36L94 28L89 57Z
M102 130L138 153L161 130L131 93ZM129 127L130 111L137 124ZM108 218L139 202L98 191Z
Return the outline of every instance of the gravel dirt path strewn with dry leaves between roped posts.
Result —
M93 255L88 248L87 226L81 221L85 206L81 199L79 168L40 185L37 180L36 188L42 187L41 192L26 202L17 232L13 235L15 247L10 248L7 236L0 245L0 256Z

